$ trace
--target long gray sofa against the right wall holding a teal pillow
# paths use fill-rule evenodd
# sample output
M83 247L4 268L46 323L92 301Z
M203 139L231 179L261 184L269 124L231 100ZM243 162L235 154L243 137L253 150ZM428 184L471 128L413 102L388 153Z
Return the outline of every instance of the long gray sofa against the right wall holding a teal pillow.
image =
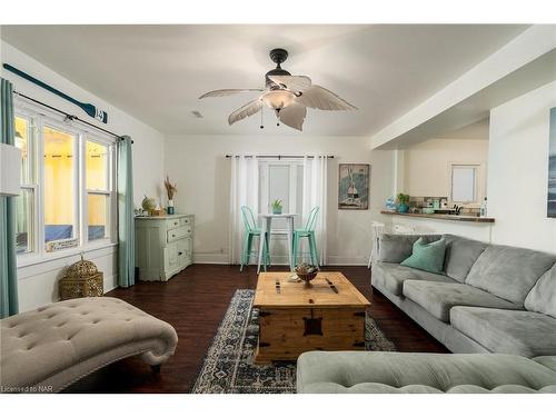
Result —
M444 274L399 265L419 238L447 242ZM453 235L384 235L371 285L453 353L556 355L556 256Z

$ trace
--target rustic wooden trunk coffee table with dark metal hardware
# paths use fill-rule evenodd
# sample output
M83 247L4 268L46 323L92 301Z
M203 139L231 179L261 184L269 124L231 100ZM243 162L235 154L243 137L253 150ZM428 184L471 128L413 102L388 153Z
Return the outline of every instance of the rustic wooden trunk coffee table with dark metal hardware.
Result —
M311 287L291 272L259 275L256 363L296 360L308 350L364 350L365 310L370 302L341 272L319 272Z

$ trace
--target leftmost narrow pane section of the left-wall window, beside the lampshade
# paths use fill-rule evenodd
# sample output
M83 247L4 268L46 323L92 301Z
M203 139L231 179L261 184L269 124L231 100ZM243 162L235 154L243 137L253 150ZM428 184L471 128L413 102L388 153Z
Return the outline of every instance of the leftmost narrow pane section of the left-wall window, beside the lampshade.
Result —
M16 146L21 149L21 192L16 198L17 252L34 250L36 237L36 120L27 116L16 116Z

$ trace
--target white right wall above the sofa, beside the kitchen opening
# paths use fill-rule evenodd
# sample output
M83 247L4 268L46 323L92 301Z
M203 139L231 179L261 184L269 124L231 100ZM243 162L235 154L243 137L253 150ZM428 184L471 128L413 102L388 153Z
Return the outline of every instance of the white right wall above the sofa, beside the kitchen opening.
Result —
M555 106L556 81L490 111L494 242L556 254L556 219L546 217L549 109Z

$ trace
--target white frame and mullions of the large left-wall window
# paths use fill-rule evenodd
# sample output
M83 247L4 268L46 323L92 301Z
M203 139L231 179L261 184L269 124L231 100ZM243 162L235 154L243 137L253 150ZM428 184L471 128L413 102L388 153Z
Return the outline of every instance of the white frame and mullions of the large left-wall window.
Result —
M116 192L116 138L105 135L93 129L88 129L79 122L66 120L63 116L43 109L42 107L32 105L24 99L16 98L14 100L14 115L34 120L34 169L36 169L36 185L30 187L34 190L34 207L33 207L33 251L26 254L18 254L18 268L27 267L34 264L48 262L51 260L66 258L69 256L97 250L117 245L117 192ZM78 238L78 245L73 248L61 249L48 252L44 242L44 140L43 128L50 126L54 129L67 131L71 135L77 135L75 142L75 190L76 190L76 207L75 219L76 230L75 237ZM86 142L98 142L108 146L109 149L109 172L108 172L108 191L100 191L99 193L109 196L109 217L107 218L107 237L103 239L88 241L88 216L87 216L87 196L86 188ZM96 190L91 190L96 192Z

